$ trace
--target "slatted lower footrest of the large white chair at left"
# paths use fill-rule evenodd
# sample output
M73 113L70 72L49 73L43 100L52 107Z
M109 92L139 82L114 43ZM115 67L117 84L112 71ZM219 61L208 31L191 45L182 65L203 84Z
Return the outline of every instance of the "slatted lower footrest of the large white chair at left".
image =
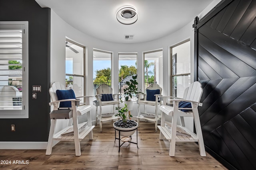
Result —
M63 132L68 130L70 127L72 127L72 126L68 126L64 129L62 129L61 131L59 131L58 133L54 134L53 139L61 140L61 141L74 141L74 135L67 135L67 136L61 135ZM94 125L87 126L84 130L82 130L78 135L79 141L84 139L84 137L86 137L86 135L88 135L88 133L90 133L94 127L95 127Z

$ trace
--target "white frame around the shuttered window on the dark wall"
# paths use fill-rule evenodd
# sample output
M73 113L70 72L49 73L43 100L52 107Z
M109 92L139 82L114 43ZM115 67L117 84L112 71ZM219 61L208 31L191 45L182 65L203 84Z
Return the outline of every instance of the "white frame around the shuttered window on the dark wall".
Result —
M28 21L0 21L0 29L22 29L22 109L0 109L0 118L28 118Z

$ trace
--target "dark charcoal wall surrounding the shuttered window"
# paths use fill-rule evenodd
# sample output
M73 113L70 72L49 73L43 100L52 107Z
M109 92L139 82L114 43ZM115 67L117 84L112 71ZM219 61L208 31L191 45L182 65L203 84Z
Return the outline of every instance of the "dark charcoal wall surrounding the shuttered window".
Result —
M0 0L0 21L28 21L29 118L0 119L0 141L48 141L50 128L50 9L34 0ZM32 99L32 86L42 86ZM16 131L11 131L15 124Z

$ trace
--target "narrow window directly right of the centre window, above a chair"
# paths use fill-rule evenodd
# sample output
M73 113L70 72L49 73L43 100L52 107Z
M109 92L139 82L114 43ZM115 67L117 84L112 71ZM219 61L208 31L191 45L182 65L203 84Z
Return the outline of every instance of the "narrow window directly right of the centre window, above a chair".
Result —
M144 53L144 90L152 83L162 85L162 67L162 49Z

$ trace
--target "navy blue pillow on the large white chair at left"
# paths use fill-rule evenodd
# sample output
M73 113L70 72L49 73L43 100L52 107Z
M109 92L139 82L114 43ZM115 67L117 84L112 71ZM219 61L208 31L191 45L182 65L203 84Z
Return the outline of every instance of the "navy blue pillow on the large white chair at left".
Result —
M64 99L75 99L76 95L74 90L56 90L56 94L58 96L58 100ZM60 102L60 107L72 107L71 102Z

